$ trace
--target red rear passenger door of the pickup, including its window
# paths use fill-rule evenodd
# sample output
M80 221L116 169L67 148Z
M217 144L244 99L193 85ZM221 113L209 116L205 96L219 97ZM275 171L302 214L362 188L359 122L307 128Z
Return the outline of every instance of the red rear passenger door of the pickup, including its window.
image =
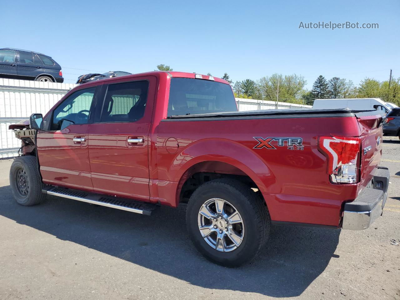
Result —
M90 125L94 191L150 200L148 151L155 77L109 84Z

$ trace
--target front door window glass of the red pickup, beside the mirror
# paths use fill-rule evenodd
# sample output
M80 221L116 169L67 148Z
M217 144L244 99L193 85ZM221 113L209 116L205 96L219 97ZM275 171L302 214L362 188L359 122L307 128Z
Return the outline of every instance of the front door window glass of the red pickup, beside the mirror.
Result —
M53 112L51 130L60 130L63 120L72 124L87 124L95 87L78 90L68 96Z

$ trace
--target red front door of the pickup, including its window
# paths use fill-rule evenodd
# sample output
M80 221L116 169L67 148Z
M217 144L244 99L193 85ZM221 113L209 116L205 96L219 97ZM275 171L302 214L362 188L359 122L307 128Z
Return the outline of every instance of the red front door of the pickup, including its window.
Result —
M100 87L70 94L52 112L46 131L38 132L36 142L44 183L93 190L88 133L94 116L94 98Z

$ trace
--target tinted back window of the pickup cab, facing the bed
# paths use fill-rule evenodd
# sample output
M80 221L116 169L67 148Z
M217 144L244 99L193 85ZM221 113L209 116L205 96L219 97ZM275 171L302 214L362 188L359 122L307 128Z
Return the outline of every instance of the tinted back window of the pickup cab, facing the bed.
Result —
M237 110L228 84L191 78L171 79L168 116Z

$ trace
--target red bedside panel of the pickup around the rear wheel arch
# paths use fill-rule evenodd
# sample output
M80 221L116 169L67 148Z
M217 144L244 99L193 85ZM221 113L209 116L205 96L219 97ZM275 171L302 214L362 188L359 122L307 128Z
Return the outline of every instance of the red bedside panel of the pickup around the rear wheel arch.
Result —
M338 226L342 202L358 193L358 185L331 184L326 158L317 136L359 136L355 117L251 118L227 120L163 120L157 130L158 186L166 204L176 206L182 174L193 164L217 160L232 164L256 182L272 220ZM304 150L254 149L254 137L300 137ZM170 154L166 142L174 138L178 150ZM285 144L286 145L286 144Z

